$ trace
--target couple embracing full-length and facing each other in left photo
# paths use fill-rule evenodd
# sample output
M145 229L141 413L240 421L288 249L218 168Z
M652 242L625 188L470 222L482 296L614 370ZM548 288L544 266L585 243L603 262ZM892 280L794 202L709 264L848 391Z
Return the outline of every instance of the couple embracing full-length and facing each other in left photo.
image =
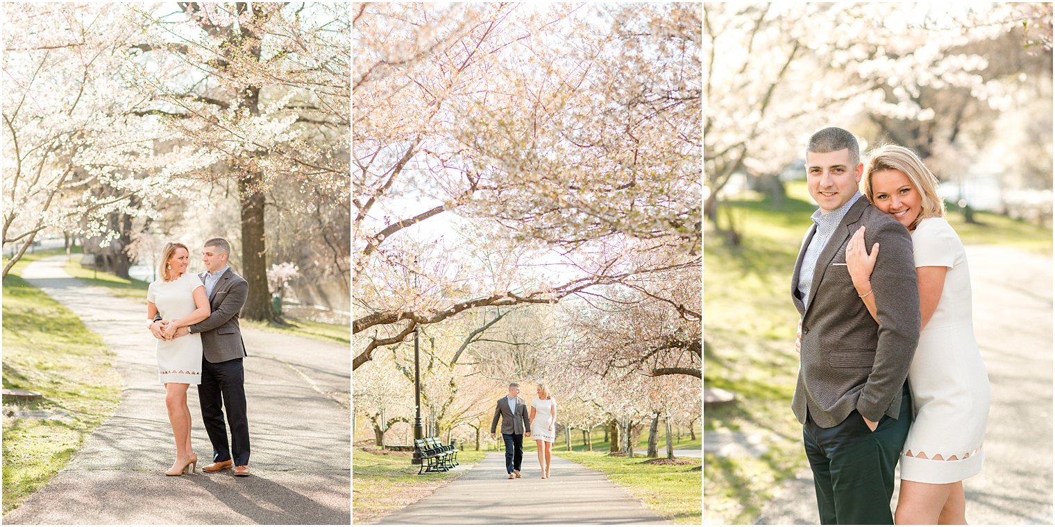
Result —
M202 418L212 443L212 463L202 470L218 472L233 466L234 475L249 475L249 419L242 367L246 346L238 328L238 312L249 289L228 266L230 254L231 246L224 238L206 241L202 258L206 272L196 275L187 272L187 246L166 243L160 278L147 290L148 325L157 338L157 376L165 385L165 405L176 443L176 460L166 475L197 468L187 407L190 385L198 386Z

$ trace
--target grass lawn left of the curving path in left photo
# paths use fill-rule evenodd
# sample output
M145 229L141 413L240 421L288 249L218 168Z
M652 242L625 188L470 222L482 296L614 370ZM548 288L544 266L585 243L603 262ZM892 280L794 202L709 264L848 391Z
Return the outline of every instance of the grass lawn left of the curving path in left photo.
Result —
M120 398L120 377L102 338L18 276L30 261L47 255L27 255L3 280L3 387L43 395L32 404L3 405L4 512L62 469ZM8 415L19 410L61 414Z

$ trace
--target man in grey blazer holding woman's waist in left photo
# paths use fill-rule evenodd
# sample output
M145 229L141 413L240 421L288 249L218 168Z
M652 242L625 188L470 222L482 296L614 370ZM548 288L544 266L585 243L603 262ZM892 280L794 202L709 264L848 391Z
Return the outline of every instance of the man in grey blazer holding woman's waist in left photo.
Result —
M231 271L228 258L231 245L224 238L205 242L203 261L206 272L198 275L205 282L212 313L208 318L176 330L175 337L188 333L202 334L202 384L198 401L202 418L212 443L212 464L206 472L218 472L234 467L234 475L249 475L249 418L246 411L245 371L242 357L246 345L238 327L238 312L246 304L249 285ZM164 327L155 317L151 332L158 336ZM227 442L224 406L231 427L231 443Z

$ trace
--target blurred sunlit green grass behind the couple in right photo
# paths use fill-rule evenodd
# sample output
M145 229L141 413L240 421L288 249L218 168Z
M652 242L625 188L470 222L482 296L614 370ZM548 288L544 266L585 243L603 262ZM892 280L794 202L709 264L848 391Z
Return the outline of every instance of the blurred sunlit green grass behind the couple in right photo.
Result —
M759 457L705 455L709 523L754 523L780 483L806 466L802 427L791 413L799 314L790 280L814 210L805 183L792 182L780 201L754 197L721 206L721 225L736 226L741 246L729 246L706 226L704 383L734 392L737 402L705 412L704 431L761 434L768 447ZM978 225L967 225L959 213L948 217L966 245L1001 243L1051 254L1051 229L986 213L976 219Z

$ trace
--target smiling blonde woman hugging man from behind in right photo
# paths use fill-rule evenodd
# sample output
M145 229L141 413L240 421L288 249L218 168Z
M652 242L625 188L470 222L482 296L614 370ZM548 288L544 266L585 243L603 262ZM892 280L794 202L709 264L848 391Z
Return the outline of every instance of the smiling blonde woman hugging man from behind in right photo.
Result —
M990 387L975 343L971 275L963 243L945 221L934 174L910 150L881 145L869 156L864 195L912 233L922 327L908 369L915 421L901 454L898 524L964 524L963 480L982 467ZM864 228L846 246L853 287L876 321L869 284L879 254Z

